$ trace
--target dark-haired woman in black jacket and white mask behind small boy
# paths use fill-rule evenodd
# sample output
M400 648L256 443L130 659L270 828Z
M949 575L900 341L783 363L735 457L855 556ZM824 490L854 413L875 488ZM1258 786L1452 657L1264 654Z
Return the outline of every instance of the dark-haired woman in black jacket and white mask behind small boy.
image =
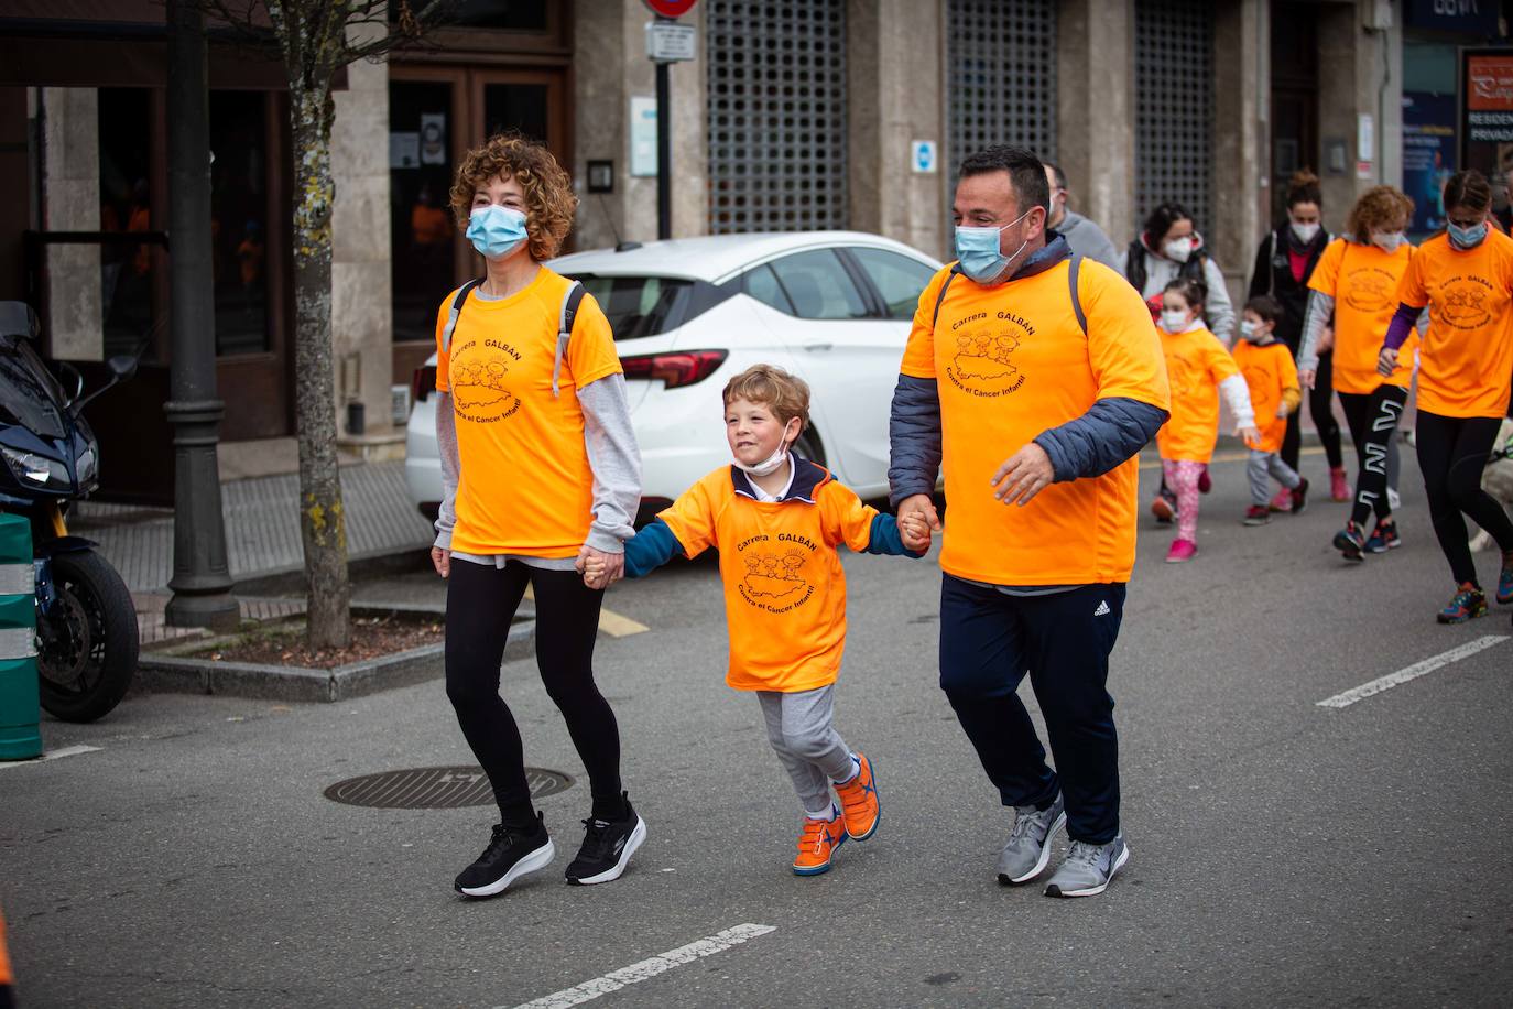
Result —
M1304 169L1294 172L1288 180L1288 216L1271 234L1260 242L1256 250L1256 266L1250 274L1250 298L1271 295L1282 304L1282 319L1277 321L1275 336L1288 345L1294 359L1298 355L1303 342L1303 316L1309 304L1309 280L1318 269L1324 248L1333 238L1324 230L1321 209L1324 194L1319 189L1319 177ZM1328 327L1318 337L1318 363L1313 371L1316 378L1309 396L1309 416L1313 418L1313 430L1318 431L1324 455L1328 458L1330 498L1334 501L1350 501L1350 484L1345 480L1345 457L1339 443L1339 422L1334 419L1334 396L1330 386L1330 365L1334 360L1333 333ZM1303 366L1298 365L1301 369ZM1298 461L1303 455L1303 411L1295 410L1288 416L1288 434L1282 442L1282 461L1292 469L1301 469ZM1272 511L1286 511L1291 498L1286 490L1271 501Z

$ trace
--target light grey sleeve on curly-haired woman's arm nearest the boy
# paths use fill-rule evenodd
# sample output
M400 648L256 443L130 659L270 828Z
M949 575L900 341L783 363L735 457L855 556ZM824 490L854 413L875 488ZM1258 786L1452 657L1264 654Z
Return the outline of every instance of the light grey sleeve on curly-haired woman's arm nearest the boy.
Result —
M583 407L583 442L593 470L593 525L587 545L605 554L625 551L635 536L632 523L642 504L642 454L631 428L625 375L614 374L578 390Z

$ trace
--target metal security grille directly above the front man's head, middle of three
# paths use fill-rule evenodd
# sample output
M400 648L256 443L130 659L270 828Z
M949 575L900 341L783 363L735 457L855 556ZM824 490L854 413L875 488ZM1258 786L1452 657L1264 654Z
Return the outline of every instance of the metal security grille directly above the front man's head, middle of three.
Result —
M952 175L990 144L1055 160L1055 2L950 0L947 32Z

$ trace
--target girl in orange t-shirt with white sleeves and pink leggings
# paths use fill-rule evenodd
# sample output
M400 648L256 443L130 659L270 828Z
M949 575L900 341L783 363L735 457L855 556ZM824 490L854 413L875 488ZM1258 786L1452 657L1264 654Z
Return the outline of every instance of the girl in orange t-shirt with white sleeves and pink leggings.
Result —
M1192 560L1198 552L1198 481L1213 458L1219 436L1219 393L1229 401L1247 445L1260 439L1245 378L1203 324L1207 295L1201 280L1173 280L1162 292L1156 327L1171 378L1171 419L1156 433L1156 445L1167 487L1177 496L1177 539L1167 552L1168 564Z

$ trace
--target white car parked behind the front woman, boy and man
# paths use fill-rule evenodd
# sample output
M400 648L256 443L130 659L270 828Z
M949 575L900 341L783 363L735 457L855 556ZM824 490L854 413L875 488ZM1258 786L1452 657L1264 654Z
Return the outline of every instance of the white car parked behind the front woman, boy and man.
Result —
M862 498L888 493L888 405L920 292L940 263L859 231L719 234L625 244L549 263L583 281L614 328L642 449L642 520L729 463L720 392L756 363L809 383L797 451ZM436 355L416 371L405 478L434 517Z

